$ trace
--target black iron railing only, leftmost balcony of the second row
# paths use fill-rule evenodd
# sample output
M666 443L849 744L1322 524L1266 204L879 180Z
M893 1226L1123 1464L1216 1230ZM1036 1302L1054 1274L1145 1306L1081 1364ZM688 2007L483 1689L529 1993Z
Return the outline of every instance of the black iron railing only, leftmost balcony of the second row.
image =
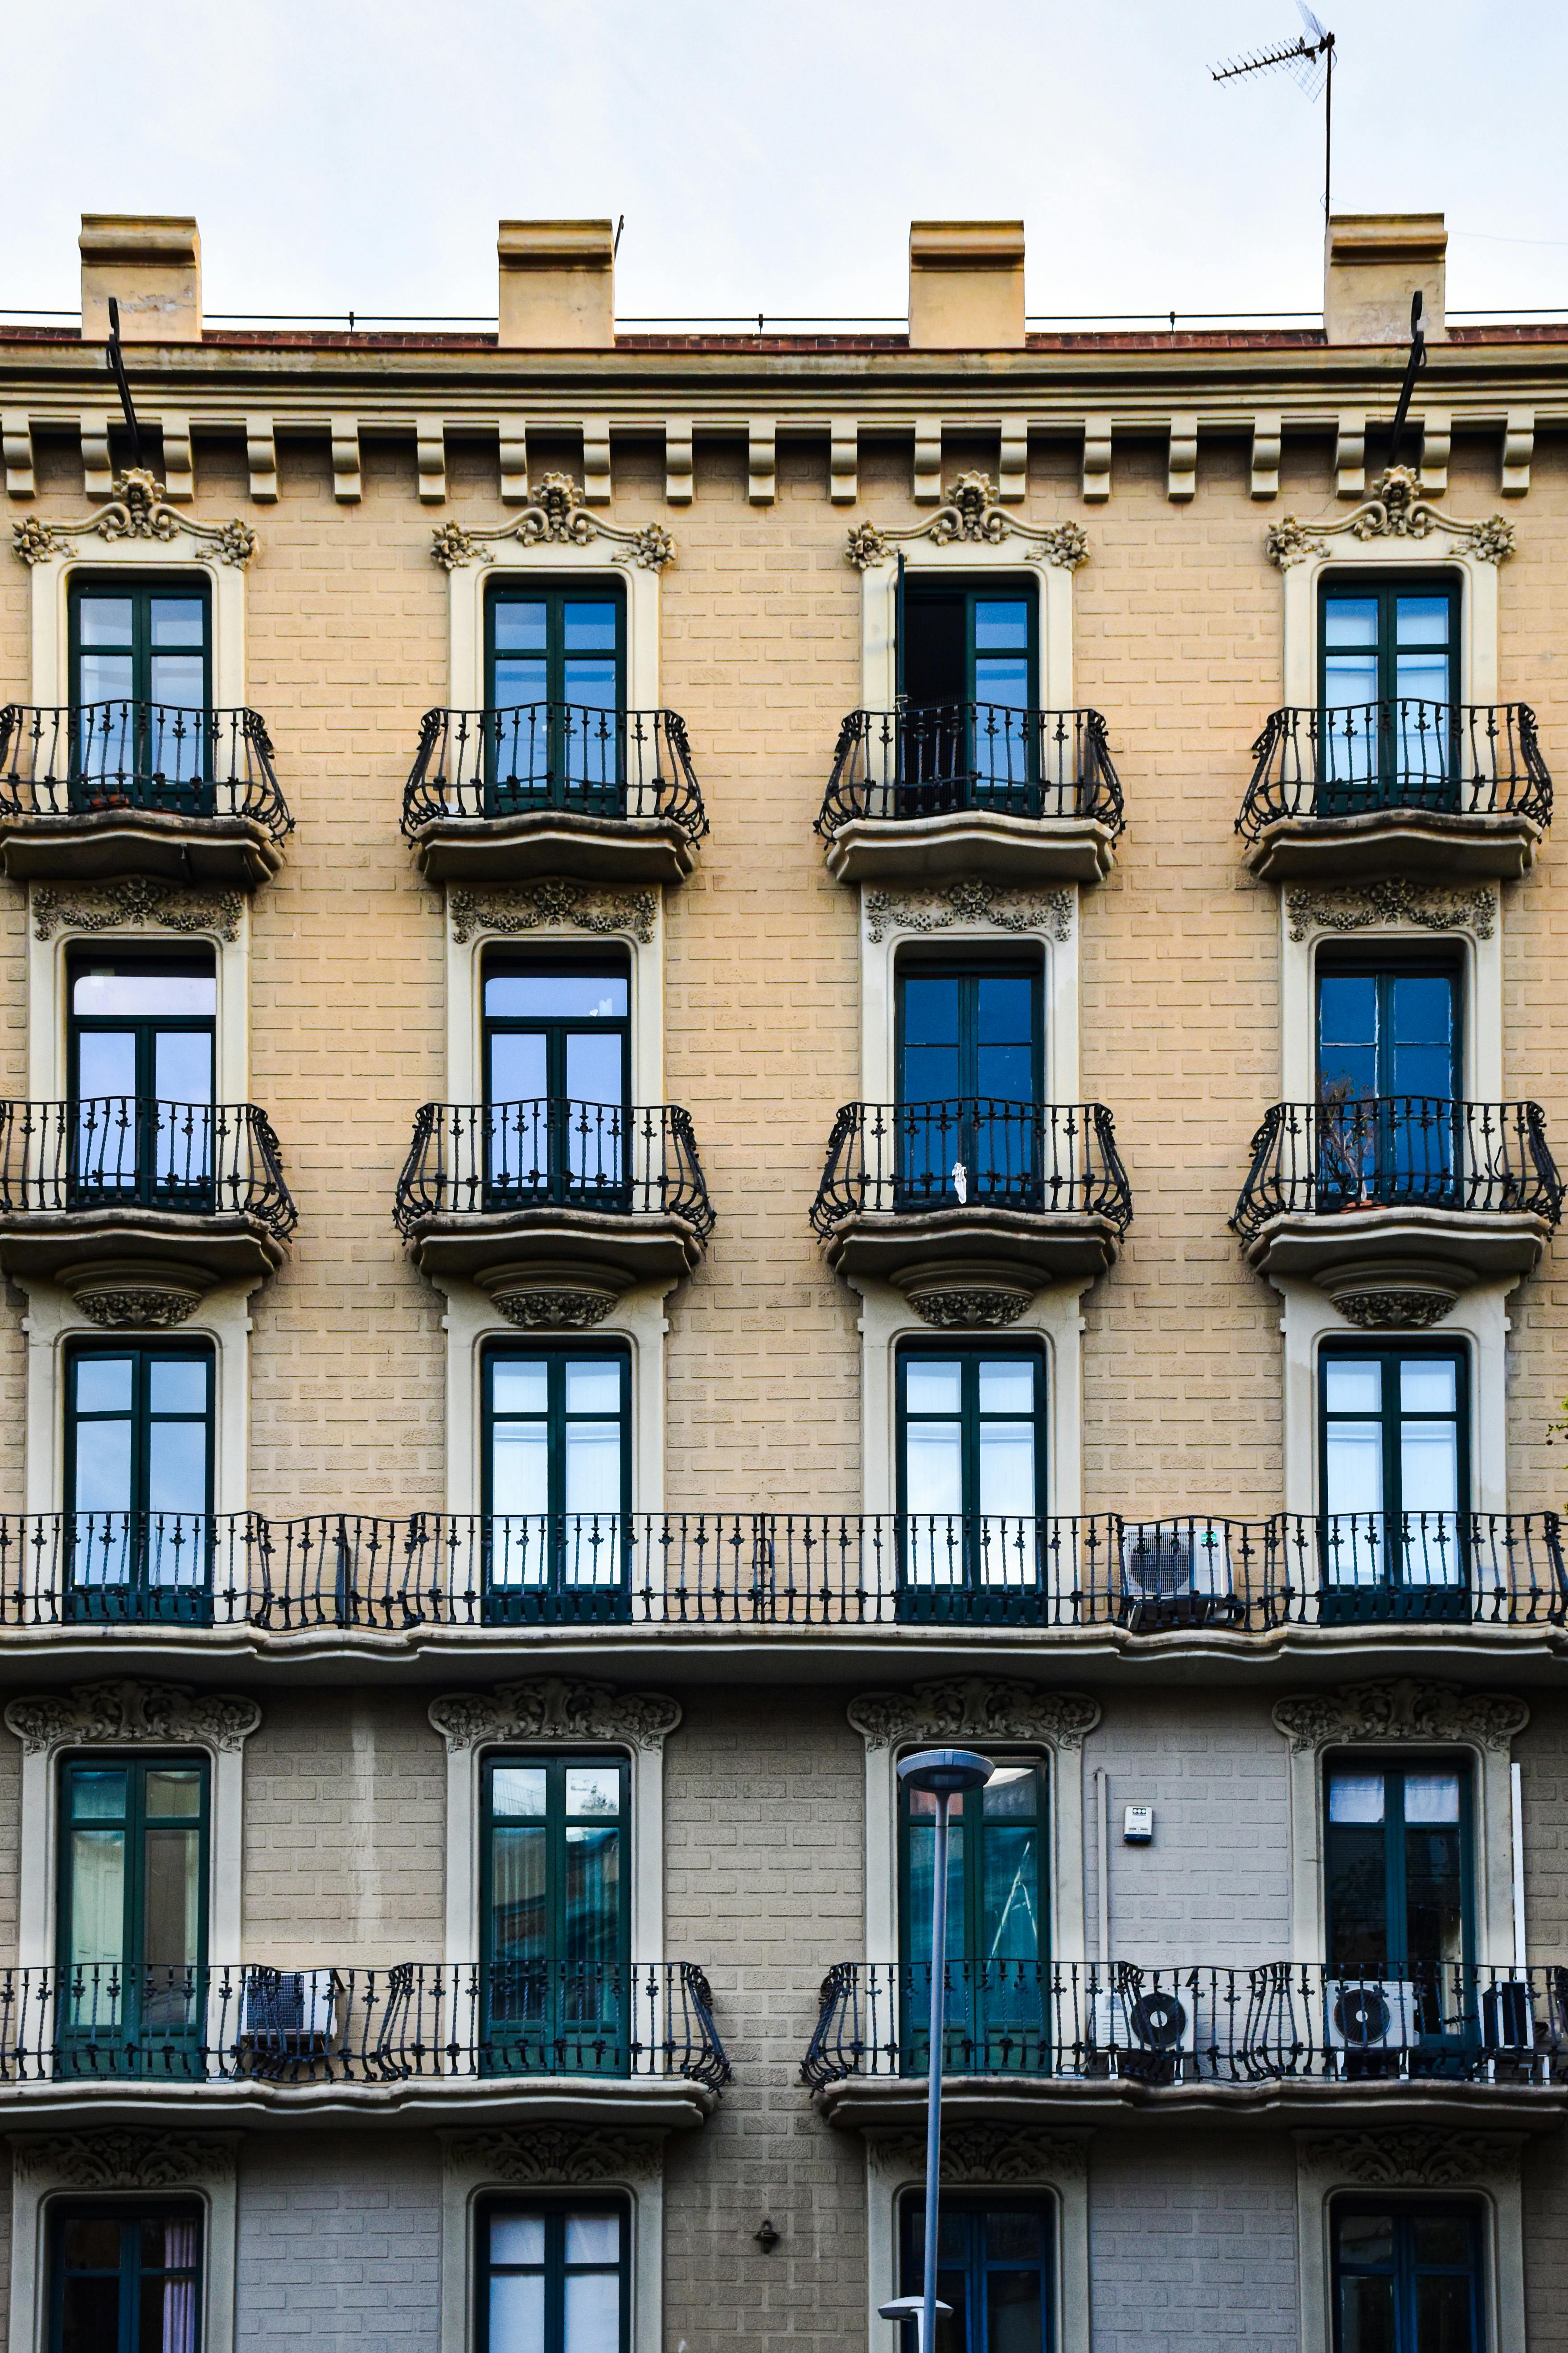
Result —
M0 1104L0 1214L181 1209L259 1219L277 1238L299 1212L282 1148L254 1104Z

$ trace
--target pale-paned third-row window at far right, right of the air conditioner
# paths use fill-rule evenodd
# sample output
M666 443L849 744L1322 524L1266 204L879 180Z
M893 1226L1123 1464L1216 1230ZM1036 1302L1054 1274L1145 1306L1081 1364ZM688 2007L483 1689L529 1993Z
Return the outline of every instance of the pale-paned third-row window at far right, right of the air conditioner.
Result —
M1460 1346L1324 1348L1326 1617L1465 1617L1467 1372Z

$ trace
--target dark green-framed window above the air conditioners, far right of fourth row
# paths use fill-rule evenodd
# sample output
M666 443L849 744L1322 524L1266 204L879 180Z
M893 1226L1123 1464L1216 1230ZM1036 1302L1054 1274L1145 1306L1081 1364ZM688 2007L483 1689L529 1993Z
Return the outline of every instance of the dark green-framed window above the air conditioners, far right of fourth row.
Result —
M1474 1967L1474 1838L1467 1758L1434 1753L1410 1765L1331 1751L1324 1758L1331 1972L1371 1981L1425 1977L1436 1986L1439 1972ZM1443 1991L1453 2017L1455 1986Z

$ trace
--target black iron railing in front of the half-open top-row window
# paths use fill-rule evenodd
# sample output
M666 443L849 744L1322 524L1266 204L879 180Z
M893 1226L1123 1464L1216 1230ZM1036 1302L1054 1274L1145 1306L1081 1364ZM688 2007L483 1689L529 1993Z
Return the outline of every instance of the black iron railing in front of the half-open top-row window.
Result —
M907 824L969 809L1086 816L1121 833L1121 781L1100 713L1009 704L851 711L816 831L832 835L853 816Z

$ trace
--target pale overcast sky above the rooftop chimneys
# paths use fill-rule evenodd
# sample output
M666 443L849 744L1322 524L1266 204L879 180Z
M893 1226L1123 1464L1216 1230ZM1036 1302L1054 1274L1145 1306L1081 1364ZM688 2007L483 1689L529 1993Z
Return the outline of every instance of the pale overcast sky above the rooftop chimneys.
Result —
M1450 306L1568 306L1568 9L1316 0L1335 209L1448 214ZM494 313L496 221L625 214L616 308L903 313L1018 216L1030 313L1321 304L1324 104L1208 66L1295 0L56 0L7 12L0 311L82 212L195 212L216 311Z

